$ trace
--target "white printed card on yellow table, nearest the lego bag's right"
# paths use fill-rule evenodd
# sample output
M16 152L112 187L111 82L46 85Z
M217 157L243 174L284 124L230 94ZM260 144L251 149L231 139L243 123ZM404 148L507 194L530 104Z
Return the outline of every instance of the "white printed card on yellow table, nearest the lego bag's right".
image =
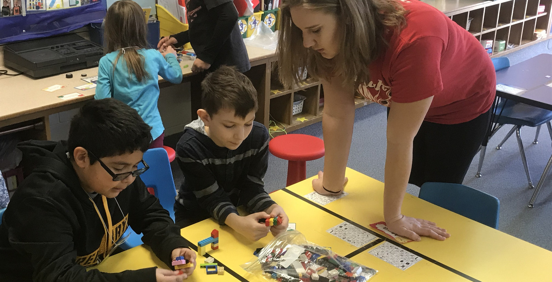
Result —
M384 260L386 263L393 265L400 270L406 270L412 265L420 262L421 257L406 251L390 242L384 242L378 247L368 251L372 256Z

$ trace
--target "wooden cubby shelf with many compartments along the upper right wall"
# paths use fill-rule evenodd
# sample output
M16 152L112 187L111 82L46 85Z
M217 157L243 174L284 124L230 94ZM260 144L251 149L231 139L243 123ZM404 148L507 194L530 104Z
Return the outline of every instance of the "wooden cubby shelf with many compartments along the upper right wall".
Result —
M434 4L433 0L423 1ZM493 40L493 42L505 40L507 44L514 44L513 48L493 52L491 57L503 56L550 38L552 0L497 0L480 3L460 0L454 2L458 4L453 9L446 10L453 4L449 3L449 0L445 0L445 5L441 10L455 23L470 31L477 40ZM463 6L463 2L465 2L465 6ZM537 12L540 5L544 5L545 9L539 14ZM541 39L533 38L535 29L546 30L546 36Z

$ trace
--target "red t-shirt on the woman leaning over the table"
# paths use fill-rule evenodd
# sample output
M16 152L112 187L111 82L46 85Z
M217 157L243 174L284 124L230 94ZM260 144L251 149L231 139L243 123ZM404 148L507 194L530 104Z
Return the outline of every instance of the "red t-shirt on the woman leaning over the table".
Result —
M369 65L357 92L388 106L433 97L426 121L459 124L490 109L496 75L480 42L442 12L421 1L401 0L406 26Z

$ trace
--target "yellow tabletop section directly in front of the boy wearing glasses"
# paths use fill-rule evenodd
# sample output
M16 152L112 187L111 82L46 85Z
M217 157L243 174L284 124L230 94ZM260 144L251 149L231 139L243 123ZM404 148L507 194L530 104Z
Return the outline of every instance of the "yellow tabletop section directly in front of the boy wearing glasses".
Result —
M207 275L204 268L199 268L199 264L203 263L205 258L198 256L197 258L197 268L194 270L194 273L189 276L185 281L197 282L197 281L213 281L213 282L239 282L240 280L236 279L229 273L224 275L210 274ZM166 264L161 262L155 254L151 251L151 248L142 244L138 247L131 248L127 251L115 254L105 259L102 263L96 265L95 267L88 268L98 269L100 272L106 273L117 273L123 272L125 270L136 270L149 267L158 267L169 269Z

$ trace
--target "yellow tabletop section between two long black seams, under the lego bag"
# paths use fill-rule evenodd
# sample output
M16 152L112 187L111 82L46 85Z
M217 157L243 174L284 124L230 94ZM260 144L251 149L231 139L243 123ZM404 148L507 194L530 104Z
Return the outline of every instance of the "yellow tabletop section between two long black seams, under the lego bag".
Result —
M309 180L305 180L301 185L308 185ZM311 188L312 189L312 188ZM305 193L306 194L306 193ZM399 268L392 266L389 263L380 260L368 254L365 249L371 248L357 248L351 244L343 241L326 230L333 226L336 226L343 222L336 216L328 214L326 211L319 209L318 207L306 203L304 200L299 199L283 190L275 191L270 194L272 199L279 205L284 207L286 214L288 214L290 221L296 224L298 231L303 233L307 240L319 244L320 246L328 246L332 248L332 251L347 257L352 257L358 263L364 264L367 267L379 270L370 281L469 281L463 276L450 272L447 269L434 264L430 260L421 260L420 262L412 265L412 267L403 271ZM244 279L253 282L266 282L258 277L247 273L240 265L248 262L253 258L253 252L257 248L266 246L272 235L268 235L265 238L257 242L251 242L246 240L243 236L233 231L227 226L219 226L213 219L204 220L188 226L182 229L182 236L190 242L197 243L198 241L209 237L211 230L219 230L219 249L213 251L210 247L206 248L209 256L215 258L218 262L225 265L236 272L237 275L242 276ZM378 240L382 241L382 240ZM372 241L375 242L375 241ZM377 247L376 244L374 247ZM356 256L350 256L351 254L358 253Z

